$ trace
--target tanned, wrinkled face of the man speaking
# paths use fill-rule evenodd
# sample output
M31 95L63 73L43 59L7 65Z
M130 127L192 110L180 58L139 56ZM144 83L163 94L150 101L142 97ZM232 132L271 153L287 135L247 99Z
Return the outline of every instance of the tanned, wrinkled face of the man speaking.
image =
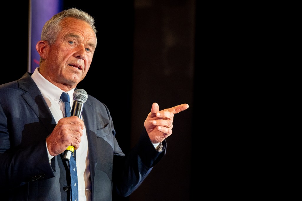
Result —
M44 70L53 84L75 88L88 72L96 37L84 21L66 18L61 23L63 29L47 52Z

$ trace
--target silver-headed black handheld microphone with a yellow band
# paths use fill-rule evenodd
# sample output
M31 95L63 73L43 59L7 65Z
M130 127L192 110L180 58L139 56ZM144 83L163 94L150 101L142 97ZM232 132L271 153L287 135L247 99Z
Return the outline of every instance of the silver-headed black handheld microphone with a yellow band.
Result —
M84 89L76 89L72 94L72 98L73 98L73 104L72 104L70 116L77 116L81 118L84 103L87 101L88 98L87 92ZM67 147L67 149L64 151L63 159L65 161L69 161L73 151L74 151L73 146Z

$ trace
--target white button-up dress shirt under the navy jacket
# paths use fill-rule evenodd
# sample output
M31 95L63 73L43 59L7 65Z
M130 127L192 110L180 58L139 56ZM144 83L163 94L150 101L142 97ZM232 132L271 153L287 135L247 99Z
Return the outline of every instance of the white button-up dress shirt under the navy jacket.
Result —
M37 84L39 90L41 91L44 100L46 101L50 112L53 115L56 123L65 116L64 103L60 100L62 90L47 79L45 79L39 72L39 67L37 67L31 75L31 78ZM65 92L65 91L64 91ZM67 91L69 95L70 107L73 104L72 94L74 89ZM84 105L85 107L85 105ZM83 118L81 118L83 120ZM46 145L47 146L47 145ZM47 149L48 151L48 149ZM49 160L53 158L48 153ZM84 122L83 136L81 137L81 142L79 148L76 150L76 166L78 174L78 188L79 188L79 201L90 201L91 200L91 180L90 180L90 171L89 171L89 158L88 158L88 142L86 136L86 128ZM78 161L85 161L78 162Z

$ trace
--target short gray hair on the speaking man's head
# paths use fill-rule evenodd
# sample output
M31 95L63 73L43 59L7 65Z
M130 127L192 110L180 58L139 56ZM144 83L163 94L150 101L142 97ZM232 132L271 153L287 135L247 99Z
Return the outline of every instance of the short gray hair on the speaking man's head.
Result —
M93 31L97 32L95 28L95 20L87 12L79 10L77 8L70 8L55 14L50 20L48 20L42 29L41 40L46 40L50 45L56 42L59 32L62 30L60 22L65 18L76 18L87 22Z

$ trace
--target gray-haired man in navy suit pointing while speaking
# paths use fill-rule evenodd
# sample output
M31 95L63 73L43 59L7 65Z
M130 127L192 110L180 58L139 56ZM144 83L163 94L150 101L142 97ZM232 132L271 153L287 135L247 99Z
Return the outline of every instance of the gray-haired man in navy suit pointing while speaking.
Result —
M72 171L63 160L70 145L76 150L76 201L111 200L112 193L129 196L165 154L174 114L188 104L159 110L153 103L127 155L115 139L108 108L94 97L88 95L81 118L64 118L61 94L72 99L96 46L94 19L76 8L62 11L43 27L36 45L40 66L0 85L0 189L5 199L71 200Z

